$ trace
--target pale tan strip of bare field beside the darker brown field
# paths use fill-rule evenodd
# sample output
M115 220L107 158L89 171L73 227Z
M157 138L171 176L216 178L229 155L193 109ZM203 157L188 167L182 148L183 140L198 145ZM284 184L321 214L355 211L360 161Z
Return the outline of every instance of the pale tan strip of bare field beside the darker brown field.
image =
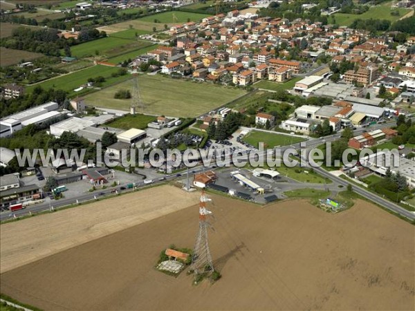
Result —
M0 272L189 207L197 197L161 186L1 225Z

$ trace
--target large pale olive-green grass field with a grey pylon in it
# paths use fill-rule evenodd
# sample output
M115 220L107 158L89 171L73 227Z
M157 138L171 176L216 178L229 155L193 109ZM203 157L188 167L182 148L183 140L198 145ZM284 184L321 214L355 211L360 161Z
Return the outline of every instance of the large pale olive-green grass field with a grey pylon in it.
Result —
M138 77L145 113L176 117L196 117L219 107L245 91L213 84L172 79L162 75L140 75ZM120 89L132 88L132 82L104 88L85 97L93 106L129 111L130 100L114 100L113 95Z

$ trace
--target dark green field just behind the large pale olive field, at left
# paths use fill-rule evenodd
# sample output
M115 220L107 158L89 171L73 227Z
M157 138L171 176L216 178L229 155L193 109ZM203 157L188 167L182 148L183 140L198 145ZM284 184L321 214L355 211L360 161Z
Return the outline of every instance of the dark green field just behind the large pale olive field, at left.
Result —
M109 66L92 66L86 68L84 70L77 71L76 73L70 73L68 75L62 75L61 77L57 77L55 79L49 79L45 82L41 82L39 84L35 84L33 86L28 86L26 91L33 91L35 86L42 86L42 88L57 88L67 91L70 94L73 94L73 90L75 88L79 88L82 84L86 84L90 77L98 77L102 75L102 77L106 78L106 81L102 83L102 87L109 86L113 83L120 82L124 79L129 79L130 75L122 75L120 77L111 77L111 73L116 73L120 68L118 67L109 67ZM85 93L85 91L81 91L80 93ZM113 96L112 96L113 97Z

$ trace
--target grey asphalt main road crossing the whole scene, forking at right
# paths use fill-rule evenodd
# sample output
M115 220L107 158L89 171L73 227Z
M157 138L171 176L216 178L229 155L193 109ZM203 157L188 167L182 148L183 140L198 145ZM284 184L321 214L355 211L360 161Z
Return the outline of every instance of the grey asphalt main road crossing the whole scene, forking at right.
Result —
M355 135L358 135L360 133L363 133L364 131L372 131L374 129L382 129L385 127L389 127L389 126L394 126L396 125L396 122L388 122L388 123L383 123L383 124L374 124L373 126L370 126L367 129L357 129L354 131ZM313 140L308 140L307 142L305 142L305 148L306 149L312 149L314 147L319 146L320 144L323 144L324 142L333 142L334 140L338 140L340 138L340 133L331 135L331 136L326 136L325 138L317 138L317 139L313 139ZM304 142L303 142L304 144ZM282 152L284 152L286 149L299 149L300 148L300 144L293 144L291 146L284 146L284 147L280 147L279 149L281 149ZM243 151L246 152L246 151ZM266 151L264 151L262 154L264 154ZM261 153L260 153L261 154ZM240 160L246 159L247 156L246 154L237 157ZM306 158L302 157L302 160L304 162L306 162ZM225 161L225 164L229 164L230 161ZM306 167L311 167L309 164L306 164ZM209 169L215 169L216 168L216 164L212 163L210 164ZM194 167L192 169L190 169L190 171L192 173L198 173L200 171L203 171L205 169L208 169L207 167L203 167L203 166L198 166L198 167ZM409 218L410 220L415 220L415 213L411 212L411 211L407 211L406 209L404 209L403 207L400 207L399 205L394 204L393 202L390 202L388 200L385 200L384 198L381 198L380 196L377 196L376 194L371 193L370 191L367 191L366 189L363 189L361 187L358 187L354 184L352 184L351 182L348 182L347 180L343 180L342 178L339 178L337 176L334 176L333 174L327 172L326 170L322 169L321 167L313 167L313 169L317 172L320 173L320 175L329 178L331 180L333 180L333 182L337 182L339 185L343 185L343 186L347 186L347 185L352 185L353 186L353 190L356 191L356 193L365 196L366 198L369 198L370 200L372 200L373 202L376 202L378 205L382 205L382 207L385 207L386 209L389 209L390 211L394 211L395 213L404 216L406 218ZM172 174L169 176L165 176L164 180L160 180L159 179L155 179L154 182L152 182L151 185L154 185L156 183L160 183L160 182L165 182L165 180L174 180L176 178L183 178L183 176L185 176L185 172L183 173L178 173L178 174ZM143 180L136 180L134 181L135 183L135 187L136 188L140 188L140 187L144 187L145 183ZM133 191L133 189L125 189L125 190L120 190L120 187L125 187L125 185L119 185L116 189L118 189L118 191L124 193L124 192L131 192ZM14 213L10 212L10 211L3 211L0 214L0 221L3 220L7 220L9 218L13 218L13 217L19 217L19 216L24 216L29 214L29 212L32 213L37 213L39 211L47 211L50 209L50 207L53 207L54 209L57 209L59 207L63 207L66 205L71 205L71 204L76 204L77 202L85 202L85 201L89 201L89 200L95 200L95 198L100 198L100 197L104 197L104 196L108 196L109 194L111 194L111 191L113 191L114 188L112 189L103 189L101 191L95 191L91 194L82 194L79 197L77 197L77 199L75 198L62 198L59 200L50 200L49 198L46 198L46 202L44 203L40 203L38 205L33 205L30 207L26 207L26 209L21 209L19 211L15 211ZM101 195L100 195L101 194ZM111 194L113 195L113 194Z

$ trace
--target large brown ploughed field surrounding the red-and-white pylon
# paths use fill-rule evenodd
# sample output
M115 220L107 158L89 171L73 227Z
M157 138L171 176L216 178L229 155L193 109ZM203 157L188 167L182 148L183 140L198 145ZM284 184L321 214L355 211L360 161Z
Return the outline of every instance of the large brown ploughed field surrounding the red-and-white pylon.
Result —
M3 273L1 290L45 310L414 308L415 230L403 220L363 201L326 214L304 200L212 198L214 285L154 270L161 249L194 245L194 205Z

